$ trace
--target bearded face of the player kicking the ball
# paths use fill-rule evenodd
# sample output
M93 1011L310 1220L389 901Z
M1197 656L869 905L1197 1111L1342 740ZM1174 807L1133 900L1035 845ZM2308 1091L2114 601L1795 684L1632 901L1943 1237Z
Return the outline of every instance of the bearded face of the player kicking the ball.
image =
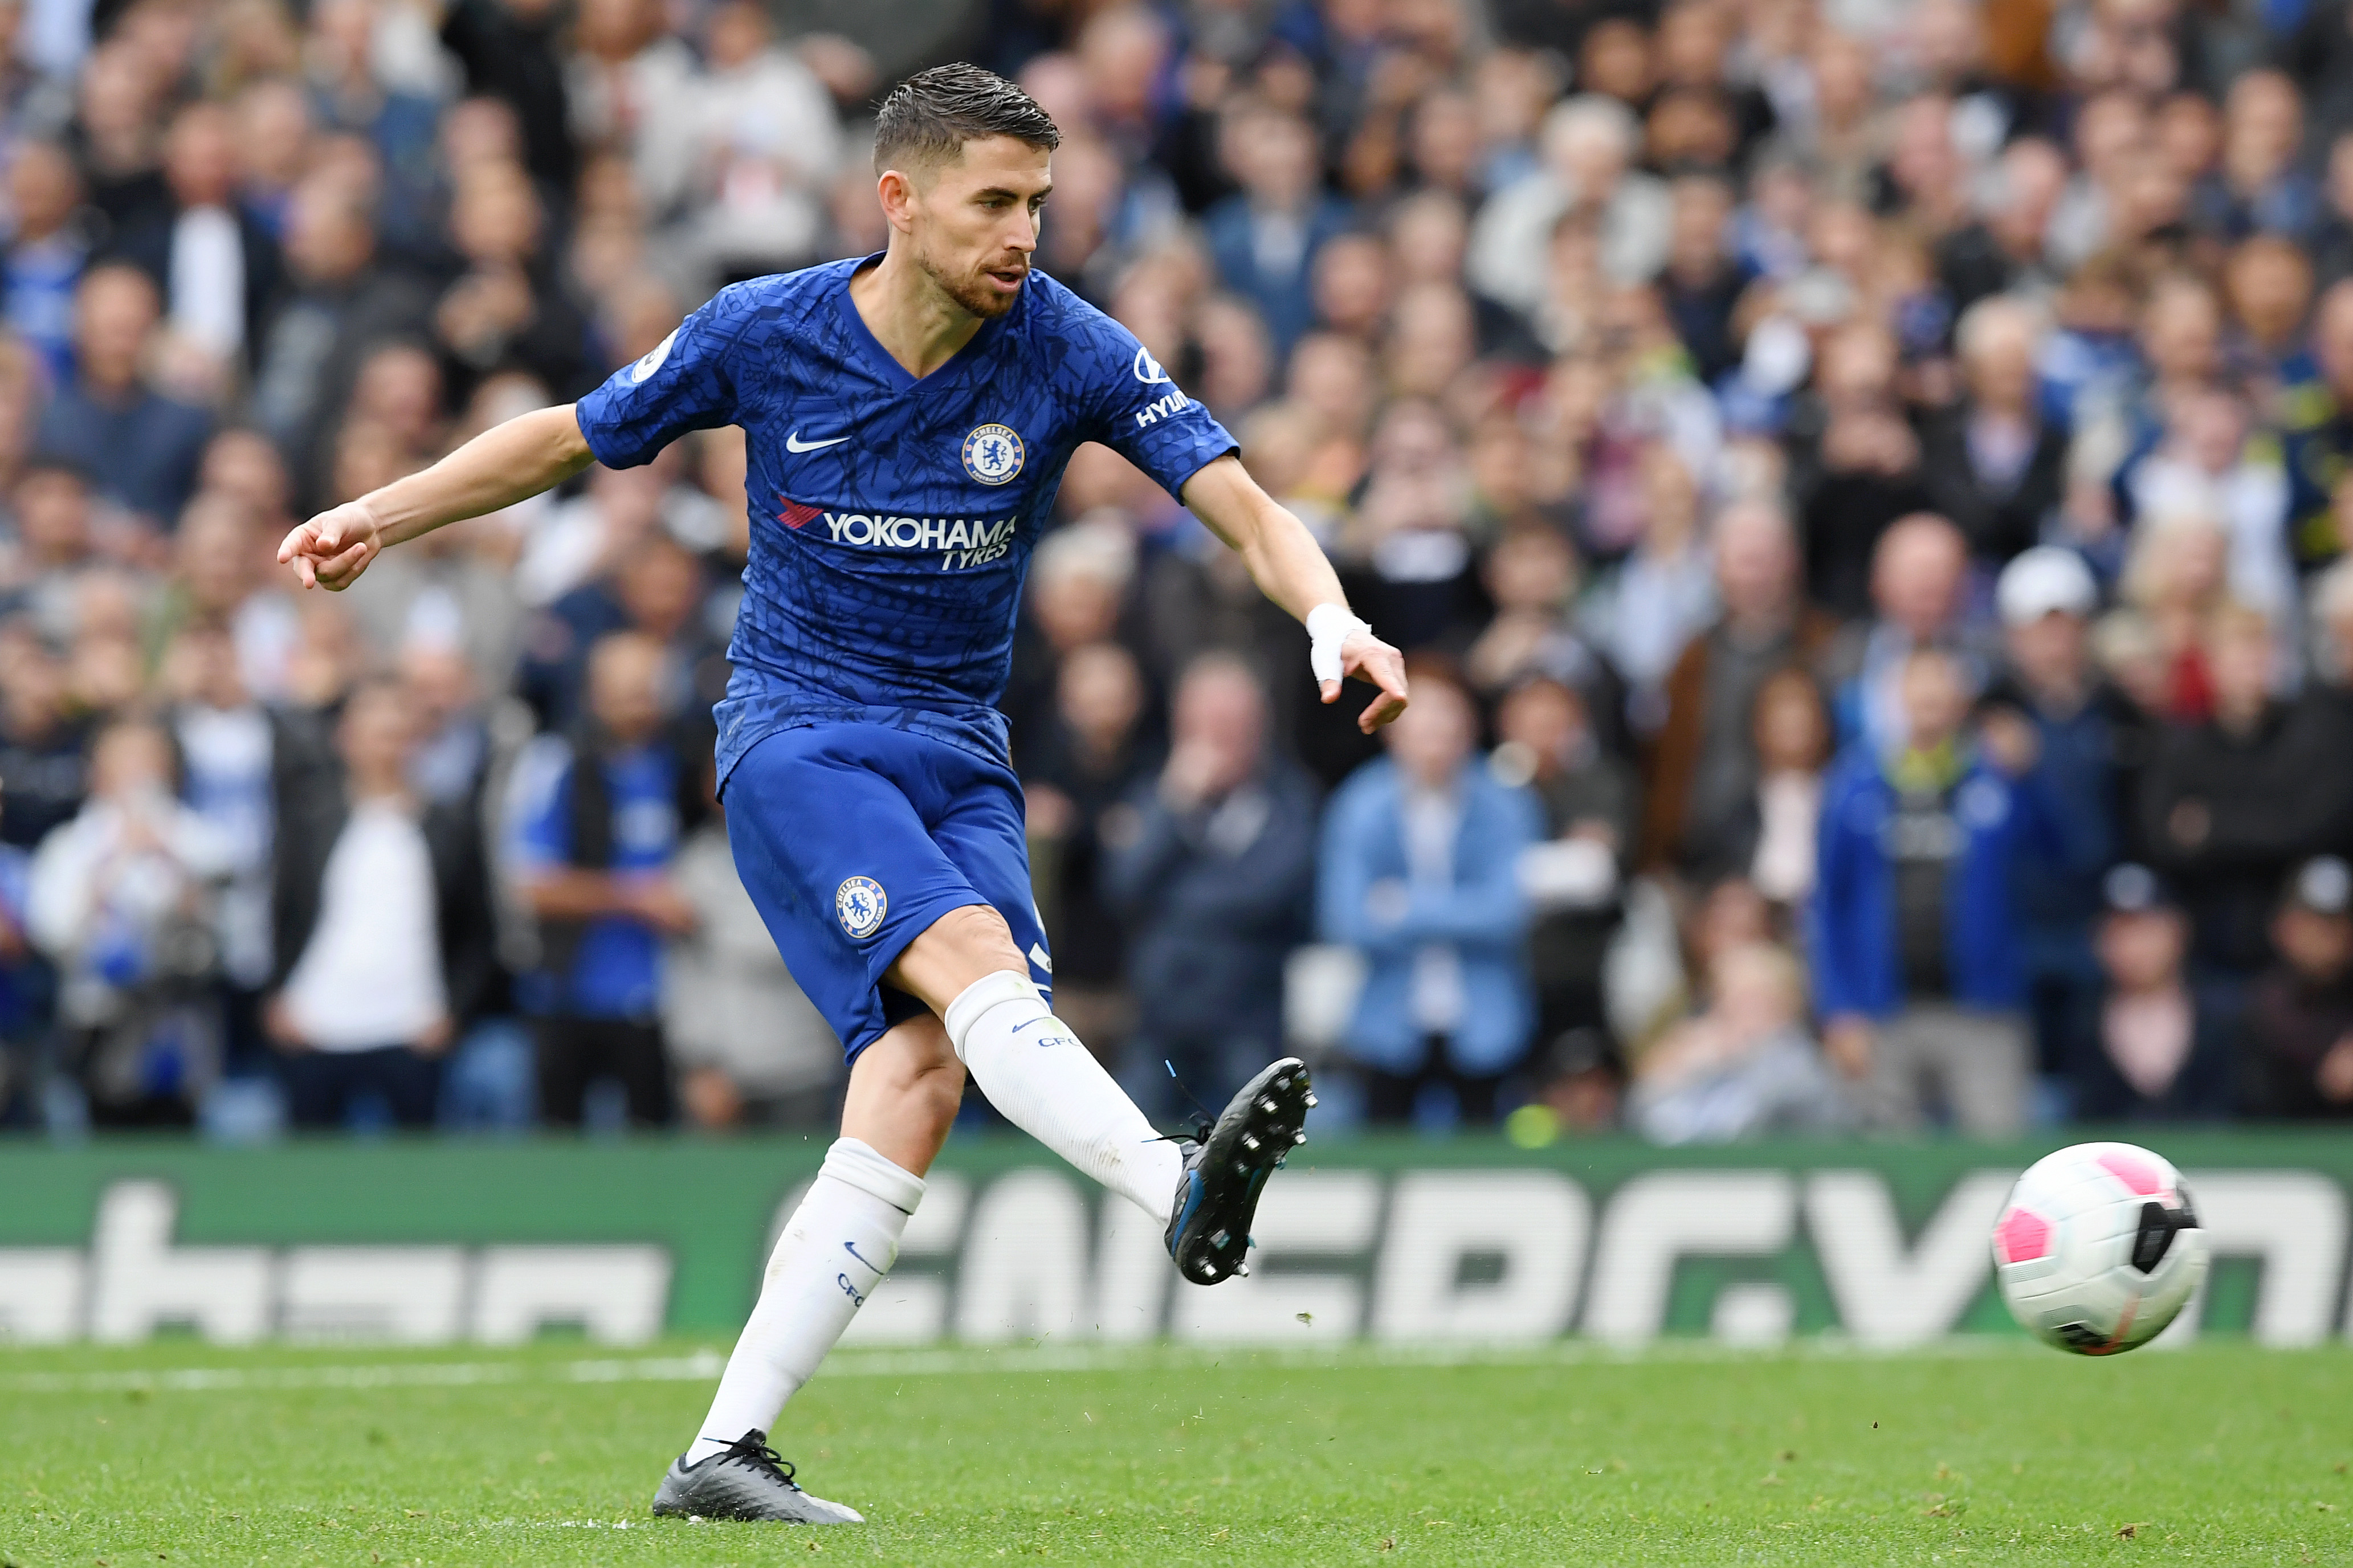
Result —
M1005 315L1028 280L1052 188L1045 148L1012 136L967 141L962 160L936 169L908 200L915 266L972 315Z

